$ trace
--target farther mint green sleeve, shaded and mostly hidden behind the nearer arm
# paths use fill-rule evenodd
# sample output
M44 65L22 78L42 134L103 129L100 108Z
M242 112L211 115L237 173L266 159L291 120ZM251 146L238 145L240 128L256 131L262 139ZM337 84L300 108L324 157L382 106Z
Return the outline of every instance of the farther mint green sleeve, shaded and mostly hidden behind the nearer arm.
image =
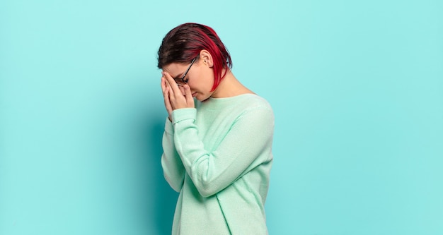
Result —
M162 142L163 155L161 156L161 167L163 167L163 175L171 188L180 192L185 179L185 168L174 145L173 133L172 123L169 119L166 119Z

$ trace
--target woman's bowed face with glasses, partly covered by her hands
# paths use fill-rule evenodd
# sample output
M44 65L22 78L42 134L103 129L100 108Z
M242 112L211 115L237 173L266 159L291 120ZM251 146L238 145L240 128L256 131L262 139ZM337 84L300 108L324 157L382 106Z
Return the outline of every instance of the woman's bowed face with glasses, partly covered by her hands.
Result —
M169 73L173 78L183 78L183 74L188 68L189 71L186 73L184 80L188 82L192 97L200 101L207 100L214 93L211 92L212 85L214 85L214 72L212 68L203 63L202 59L197 59L192 66L190 66L190 63L168 64L163 67L163 72Z

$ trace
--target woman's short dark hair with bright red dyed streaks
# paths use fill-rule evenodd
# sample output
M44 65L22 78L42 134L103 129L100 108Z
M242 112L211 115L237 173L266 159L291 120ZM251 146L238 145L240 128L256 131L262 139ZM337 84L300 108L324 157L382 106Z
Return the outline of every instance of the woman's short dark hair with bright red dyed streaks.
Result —
M190 63L199 56L202 49L207 50L214 62L214 91L226 76L227 68L232 68L231 55L217 33L206 25L184 23L169 31L159 48L159 68L171 63ZM223 69L226 68L222 74Z

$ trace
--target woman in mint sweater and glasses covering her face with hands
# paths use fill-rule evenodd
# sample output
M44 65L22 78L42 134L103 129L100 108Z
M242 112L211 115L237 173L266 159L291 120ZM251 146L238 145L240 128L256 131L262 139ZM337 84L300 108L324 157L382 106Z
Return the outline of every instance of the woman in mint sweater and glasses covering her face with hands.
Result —
M168 119L161 165L180 193L172 234L267 234L270 105L238 82L216 32L185 23L159 48Z

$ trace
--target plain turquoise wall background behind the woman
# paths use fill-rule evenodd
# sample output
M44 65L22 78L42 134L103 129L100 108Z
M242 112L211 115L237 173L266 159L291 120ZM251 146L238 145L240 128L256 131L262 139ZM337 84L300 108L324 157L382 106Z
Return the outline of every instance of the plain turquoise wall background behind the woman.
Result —
M0 234L170 234L156 52L210 25L275 111L270 234L443 234L443 1L0 2Z

